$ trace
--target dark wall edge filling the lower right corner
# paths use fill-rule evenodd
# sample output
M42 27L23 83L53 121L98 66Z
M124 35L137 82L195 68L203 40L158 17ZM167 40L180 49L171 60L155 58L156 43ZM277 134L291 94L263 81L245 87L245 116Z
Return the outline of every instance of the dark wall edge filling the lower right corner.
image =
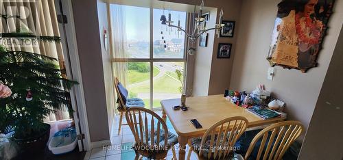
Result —
M299 159L343 158L343 28L337 44Z

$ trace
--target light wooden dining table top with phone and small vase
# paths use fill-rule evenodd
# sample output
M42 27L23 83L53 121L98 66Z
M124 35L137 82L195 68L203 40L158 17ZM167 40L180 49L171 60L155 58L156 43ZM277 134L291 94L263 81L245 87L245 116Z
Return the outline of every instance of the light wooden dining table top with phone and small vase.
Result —
M238 107L226 101L226 98L222 94L189 97L186 99L186 105L189 107L187 111L173 109L174 106L180 105L180 98L163 100L161 101L161 105L171 124L173 124L176 133L181 136L201 135L216 122L234 116L243 116L248 119L248 127L261 126L285 120L285 118L263 120L246 111L243 107ZM202 125L202 129L196 129L191 124L191 119L198 120Z

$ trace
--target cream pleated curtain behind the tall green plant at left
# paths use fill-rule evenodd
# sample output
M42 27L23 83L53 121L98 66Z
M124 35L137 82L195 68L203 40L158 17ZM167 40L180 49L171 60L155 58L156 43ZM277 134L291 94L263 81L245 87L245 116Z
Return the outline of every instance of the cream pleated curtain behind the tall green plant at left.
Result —
M5 18L0 18L1 33L16 32L16 29L20 29L21 32L29 32L37 36L60 36L54 0L0 0L0 14L8 16L7 22ZM20 16L20 20L9 16ZM1 44L5 43L1 42ZM31 44L12 44L12 46L5 45L5 47L8 49L12 47L15 51L27 51L54 57L58 59L60 68L64 69L64 57L60 43L38 40L36 43L32 41ZM69 113L65 109L47 116L44 121L69 118Z

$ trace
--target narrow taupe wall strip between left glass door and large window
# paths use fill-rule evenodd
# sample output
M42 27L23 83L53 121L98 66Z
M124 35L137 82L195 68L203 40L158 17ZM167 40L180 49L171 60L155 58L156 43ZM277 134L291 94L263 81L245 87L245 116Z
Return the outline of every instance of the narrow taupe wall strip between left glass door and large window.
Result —
M91 142L110 139L97 1L73 0L78 53Z

